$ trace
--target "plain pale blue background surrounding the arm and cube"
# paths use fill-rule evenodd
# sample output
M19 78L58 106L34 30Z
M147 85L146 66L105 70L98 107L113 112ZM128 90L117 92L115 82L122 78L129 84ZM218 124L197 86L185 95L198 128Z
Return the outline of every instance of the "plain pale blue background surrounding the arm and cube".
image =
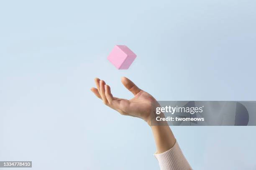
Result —
M34 170L157 170L143 120L96 98L256 100L255 0L0 1L0 160ZM117 70L106 57L127 45ZM172 127L195 170L255 170L256 127ZM11 168L10 168L11 169Z

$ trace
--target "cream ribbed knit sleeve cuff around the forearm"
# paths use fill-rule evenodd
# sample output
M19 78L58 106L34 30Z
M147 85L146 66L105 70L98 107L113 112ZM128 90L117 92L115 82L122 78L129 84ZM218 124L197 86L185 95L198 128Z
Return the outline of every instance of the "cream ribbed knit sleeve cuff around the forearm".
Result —
M161 170L192 170L177 141L171 149L164 153L155 153L154 156L158 160Z

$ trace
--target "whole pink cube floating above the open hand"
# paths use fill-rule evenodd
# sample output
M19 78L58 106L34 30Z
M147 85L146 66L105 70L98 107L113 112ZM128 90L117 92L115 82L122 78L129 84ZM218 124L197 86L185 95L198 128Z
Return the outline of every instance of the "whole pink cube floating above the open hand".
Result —
M136 58L136 54L125 45L115 45L108 55L108 60L118 69L128 69Z

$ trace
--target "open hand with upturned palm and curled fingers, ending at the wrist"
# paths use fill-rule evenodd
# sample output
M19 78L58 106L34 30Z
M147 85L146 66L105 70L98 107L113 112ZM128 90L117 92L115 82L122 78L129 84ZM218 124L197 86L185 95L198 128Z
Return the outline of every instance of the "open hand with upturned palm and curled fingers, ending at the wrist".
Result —
M134 97L131 100L113 97L110 91L110 86L106 85L103 80L95 78L97 88L92 87L92 92L99 97L103 103L114 110L117 110L122 115L139 117L145 120L148 125L151 124L151 103L155 102L153 96L139 89L131 80L122 77L123 85L133 93Z

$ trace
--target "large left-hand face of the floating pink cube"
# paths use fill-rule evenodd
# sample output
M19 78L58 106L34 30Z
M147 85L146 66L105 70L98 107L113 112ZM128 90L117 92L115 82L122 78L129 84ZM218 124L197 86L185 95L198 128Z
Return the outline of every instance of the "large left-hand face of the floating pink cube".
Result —
M108 60L118 69L122 67L123 62L127 58L127 54L123 52L117 45L113 48L113 50L110 52L110 55L108 55Z

